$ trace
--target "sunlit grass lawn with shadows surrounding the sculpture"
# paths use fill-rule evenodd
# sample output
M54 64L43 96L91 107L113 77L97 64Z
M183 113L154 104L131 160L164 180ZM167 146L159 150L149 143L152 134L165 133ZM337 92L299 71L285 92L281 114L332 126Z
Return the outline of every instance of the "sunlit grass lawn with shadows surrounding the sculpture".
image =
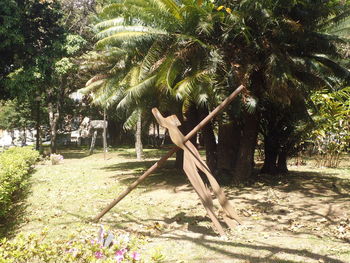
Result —
M90 219L151 166L165 150L133 149L92 156L62 150L60 165L36 167L30 191L3 235L40 232L49 239L96 231ZM290 162L292 164L292 161ZM107 213L100 224L149 237L165 262L350 262L350 162L338 169L290 166L290 174L271 185L225 188L243 219L222 238L174 160L159 169ZM214 200L216 202L216 200ZM217 203L215 203L217 204Z

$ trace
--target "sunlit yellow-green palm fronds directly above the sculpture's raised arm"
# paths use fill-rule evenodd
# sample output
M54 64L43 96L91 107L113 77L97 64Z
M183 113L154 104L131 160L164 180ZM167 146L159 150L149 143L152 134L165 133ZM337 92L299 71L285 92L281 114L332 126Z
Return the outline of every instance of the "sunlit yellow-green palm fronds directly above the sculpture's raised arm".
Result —
M141 8L146 7L144 13L139 12ZM197 5L195 7L202 20L207 18L203 10ZM184 28L194 31L196 26L188 23L196 25L199 20L196 22L193 19L185 19L183 12L179 10L178 4L171 1L126 1L122 5L113 4L105 8L102 15L107 20L96 26L100 30L97 34L100 40L96 46L103 50L101 54L106 54L108 50L117 46L117 49L125 52L124 64L130 67L125 66L123 70L119 70L121 75L125 75L124 79L107 88L108 91L105 85L101 88L104 81L100 80L97 84L91 82L91 86L87 87L85 92L93 89L94 93L100 93L100 97L95 95L95 101L111 101L116 97L114 92L124 94L123 99L118 101L118 107L129 109L136 104L137 107L142 107L140 101L144 100L139 98L144 98L149 93L158 94L156 97L159 97L159 100L155 100L158 103L151 106L163 107L167 112L180 113L181 107L186 111L191 104L213 101L211 98L215 96L208 96L213 84L213 70L208 61L200 59L208 57L207 47L193 37L193 32L178 33ZM133 18L130 18L130 14ZM155 16L158 16L156 20L150 19ZM167 20L167 23L162 22L159 16ZM152 24L153 27L147 24ZM107 59L108 56L109 53ZM110 68L115 69L111 65ZM110 73L105 76L105 81L115 79L115 74L119 75L115 70ZM131 76L134 76L133 83L128 81ZM175 103L175 108L171 109L169 101L183 103Z

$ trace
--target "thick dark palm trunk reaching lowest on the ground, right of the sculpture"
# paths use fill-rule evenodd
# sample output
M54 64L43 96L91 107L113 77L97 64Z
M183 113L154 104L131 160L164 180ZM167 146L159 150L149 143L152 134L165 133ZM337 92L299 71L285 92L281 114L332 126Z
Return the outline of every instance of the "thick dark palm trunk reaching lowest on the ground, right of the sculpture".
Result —
M254 153L258 137L257 113L243 113L243 126L240 135L239 149L234 167L232 182L234 184L248 183L254 172Z

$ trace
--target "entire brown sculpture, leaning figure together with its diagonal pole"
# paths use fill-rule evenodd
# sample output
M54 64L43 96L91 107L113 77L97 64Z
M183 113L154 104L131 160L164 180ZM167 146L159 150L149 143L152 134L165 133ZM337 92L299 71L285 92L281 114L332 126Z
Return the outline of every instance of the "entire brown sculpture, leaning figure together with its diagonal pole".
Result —
M198 193L199 197L201 198L203 204L205 204L204 206L207 209L207 212L208 212L208 209L209 209L208 215L212 219L215 227L217 228L217 230L219 231L219 233L221 235L224 235L224 231L223 231L222 226L221 226L220 222L218 221L216 215L212 211L213 209L210 210L210 208L212 207L212 200L211 200L211 196L210 196L210 194L208 192L208 189L206 188L206 186L204 185L204 183L203 183L203 181L201 179L200 179L200 181L202 183L198 182L198 178L196 177L196 175L192 176L193 171L194 171L194 174L196 174L196 173L198 174L197 167L199 169L201 169L207 175L207 177L209 179L209 182L212 185L213 191L216 194L216 196L218 197L219 203L223 207L223 210L224 210L224 213L225 213L224 214L224 220L227 222L227 224L232 228L234 226L234 224L232 224L232 219L236 220L237 222L240 222L240 220L239 220L238 216L235 214L235 212L234 212L233 208L231 207L231 205L229 204L229 202L227 201L223 191L221 190L220 186L216 182L215 178L213 178L213 176L211 175L208 166L203 161L201 161L201 158L199 156L198 151L192 145L194 147L194 149L195 149L195 151L194 151L192 146L191 145L189 146L189 144L187 144L186 142L189 139L191 139L208 122L210 122L222 109L227 107L227 105L229 105L231 103L231 101L243 89L244 89L244 86L240 85L235 91L233 91L231 93L230 96L228 96L223 102L221 102L221 104L219 106L217 106L207 117L205 117L196 127L194 127L193 130L189 134L187 134L186 136L183 136L183 134L181 134L180 137L179 136L175 136L175 142L174 142L175 144L179 143L179 145L181 145L181 147L186 149L185 154L186 155L190 154L191 155L190 158L192 160L194 160L194 161L189 162L189 163L186 162L186 164L184 163L184 169L185 169L185 171L187 171L186 174L188 172L191 174L191 177L193 179L190 179L190 181L192 180L192 181L195 182L195 185L196 185L195 190L197 191L197 193ZM154 109L153 111L156 113L157 117L159 117L159 115L157 113L157 109ZM171 118L174 118L174 117L171 117ZM173 125L177 128L176 120L173 119L172 122L174 122ZM179 141L178 141L178 138L180 138ZM92 221L98 222L109 210L111 210L116 204L118 204L121 200L123 200L124 197L126 197L133 189L135 189L137 185L139 185L150 174L152 174L152 172L154 172L157 168L159 168L162 164L164 164L166 162L166 160L169 157L171 157L178 149L179 149L178 147L172 148L165 156L163 156L159 161L157 161L150 168L148 168L148 170L146 172L144 172L143 175L141 175L136 181L134 181L131 185L129 185L116 199L114 199L95 218L93 218ZM186 159L186 158L184 158L184 159ZM197 185L198 185L198 187L197 187ZM200 193L198 191L200 191ZM210 197L210 198L208 198L208 197Z

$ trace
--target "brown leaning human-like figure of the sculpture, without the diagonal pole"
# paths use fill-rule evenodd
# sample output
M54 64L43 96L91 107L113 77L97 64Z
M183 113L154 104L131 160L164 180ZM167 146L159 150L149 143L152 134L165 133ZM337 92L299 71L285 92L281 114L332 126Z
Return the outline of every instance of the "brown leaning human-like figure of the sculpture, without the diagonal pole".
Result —
M157 108L153 108L152 113L159 125L168 129L170 138L173 141L173 143L175 143L179 148L181 148L184 151L183 169L188 179L190 180L193 188L197 192L205 209L207 210L208 216L212 220L216 230L220 233L220 235L224 235L225 232L214 212L214 205L210 191L208 187L204 184L202 178L200 177L198 169L201 170L207 176L209 183L213 189L213 192L215 193L220 205L223 208L223 218L226 224L229 227L233 228L235 226L233 220L236 220L238 223L240 223L240 220L237 214L234 212L231 204L227 200L223 190L212 175L207 164L201 159L201 156L196 147L192 144L191 141L185 141L185 136L181 133L181 131L178 128L178 126L180 126L181 123L176 117L176 115L171 115L167 118L164 118Z

